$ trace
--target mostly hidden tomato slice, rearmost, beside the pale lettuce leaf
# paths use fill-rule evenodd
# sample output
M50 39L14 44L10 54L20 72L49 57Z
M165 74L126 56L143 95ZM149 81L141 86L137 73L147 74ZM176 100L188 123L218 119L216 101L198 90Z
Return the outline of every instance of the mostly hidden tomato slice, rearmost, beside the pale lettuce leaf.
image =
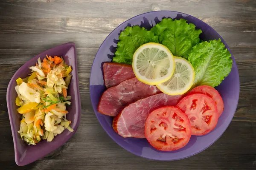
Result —
M219 116L221 116L221 114L224 110L224 103L223 103L221 95L215 88L213 88L209 85L200 85L196 88L193 88L192 91L190 91L188 95L197 94L197 93L205 94L205 95L209 96L210 98L212 98L214 100L215 104L217 105L218 114L219 114Z

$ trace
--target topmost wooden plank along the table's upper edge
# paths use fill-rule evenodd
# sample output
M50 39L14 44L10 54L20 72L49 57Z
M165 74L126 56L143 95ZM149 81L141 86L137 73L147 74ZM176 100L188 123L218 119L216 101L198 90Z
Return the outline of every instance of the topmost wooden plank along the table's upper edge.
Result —
M46 1L47 2L47 1ZM134 17L158 10L180 11L195 17L248 17L254 19L255 3L235 0L179 0L179 1L80 1L81 3L11 3L1 2L3 18L28 17ZM59 1L60 2L60 1ZM100 9L100 10L99 10ZM111 11L111 12L110 12Z

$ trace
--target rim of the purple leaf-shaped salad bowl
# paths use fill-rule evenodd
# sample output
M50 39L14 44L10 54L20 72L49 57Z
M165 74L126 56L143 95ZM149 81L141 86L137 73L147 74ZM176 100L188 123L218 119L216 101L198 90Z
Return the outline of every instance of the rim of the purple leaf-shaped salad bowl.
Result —
M80 97L80 92L79 92L79 81L78 81L78 73L77 73L77 52L76 52L76 44L74 42L67 42L67 43L64 43L64 44L61 44L61 45L57 45L57 46L54 46L53 48L49 48L47 49L46 51L42 51L41 53L33 56L32 58L30 58L28 61L26 61L25 63L23 63L23 65L26 65L26 63L29 63L30 60L32 60L33 58L36 58L36 57L39 57L39 55L41 55L42 53L45 53L47 51L51 51L53 50L54 48L60 48L62 46L65 46L65 45L69 45L70 48L73 47L74 48L74 66L76 69L75 70L75 77L76 77L76 86L77 86L77 103L79 105L79 108L78 108L78 122L76 123L75 127L73 128L74 132L71 133L71 135L67 136L66 138L64 138L63 140L61 140L59 143L59 145L54 149L56 150L58 147L61 147L65 142L67 142L75 133L76 133L76 130L78 129L79 127L79 124L80 124L80 119L81 119L81 97ZM11 108L11 97L9 97L8 94L10 94L10 91L12 91L13 89L11 89L12 87L12 82L15 81L15 77L19 74L20 70L22 69L23 65L20 66L20 68L17 69L17 71L15 72L15 74L13 74L12 78L10 79L9 81L9 84L8 84L8 87L7 87L7 90L6 90L6 103L7 103L7 109L8 109L8 114L9 114L9 121L10 121L10 125L11 125L11 130L12 130L12 139L13 139L13 144L14 144L14 150L15 150L15 162L18 166L24 166L26 164L30 164L38 159L41 159L43 158L44 156L47 156L47 154L53 152L54 150L51 150L49 153L47 152L47 154L42 154L40 156L38 156L35 160L33 161L20 161L19 160L19 157L18 157L18 154L17 154L17 142L18 140L20 139L17 139L17 136L14 135L15 133L17 133L15 130L14 130L14 126L15 125L15 122L14 121L11 121L11 119L13 118L12 117L12 114L13 114L13 110Z

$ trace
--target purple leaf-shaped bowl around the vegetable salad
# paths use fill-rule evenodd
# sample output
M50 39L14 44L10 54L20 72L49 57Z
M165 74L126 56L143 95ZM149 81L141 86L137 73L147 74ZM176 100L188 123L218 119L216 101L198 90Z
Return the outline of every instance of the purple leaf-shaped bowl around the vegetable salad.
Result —
M15 105L15 99L17 97L17 93L15 91L15 86L17 85L16 79L18 77L25 78L30 74L31 70L29 67L35 66L37 59L40 57L41 60L46 57L46 55L51 56L62 56L65 62L72 67L71 75L72 79L68 89L68 95L71 96L72 107L67 107L68 114L67 119L71 120L72 123L70 127L73 128L74 132L70 132L69 130L64 130L63 133L58 134L54 137L52 142L47 142L46 140L42 140L40 143L36 145L27 145L20 138L20 134L17 133L20 130L20 114L17 113L17 106ZM78 84L78 76L77 76L77 62L76 62L76 47L75 43L68 42L63 45L59 45L58 47L49 49L44 51L41 54L30 59L24 65L22 65L18 71L14 74L12 79L9 82L6 94L8 113L12 128L12 138L14 143L15 150L15 161L19 166L23 166L29 164L33 161L36 161L50 152L54 151L58 147L61 147L77 130L77 127L80 123L81 117L81 102L80 102L80 94L79 94L79 84Z

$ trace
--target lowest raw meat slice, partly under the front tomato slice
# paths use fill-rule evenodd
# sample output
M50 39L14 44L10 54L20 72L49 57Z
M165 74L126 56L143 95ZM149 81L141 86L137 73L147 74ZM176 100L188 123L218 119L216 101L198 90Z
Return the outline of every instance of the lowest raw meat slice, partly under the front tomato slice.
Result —
M176 106L182 95L156 94L128 105L113 120L113 129L120 136L145 138L144 128L148 114L163 106Z

